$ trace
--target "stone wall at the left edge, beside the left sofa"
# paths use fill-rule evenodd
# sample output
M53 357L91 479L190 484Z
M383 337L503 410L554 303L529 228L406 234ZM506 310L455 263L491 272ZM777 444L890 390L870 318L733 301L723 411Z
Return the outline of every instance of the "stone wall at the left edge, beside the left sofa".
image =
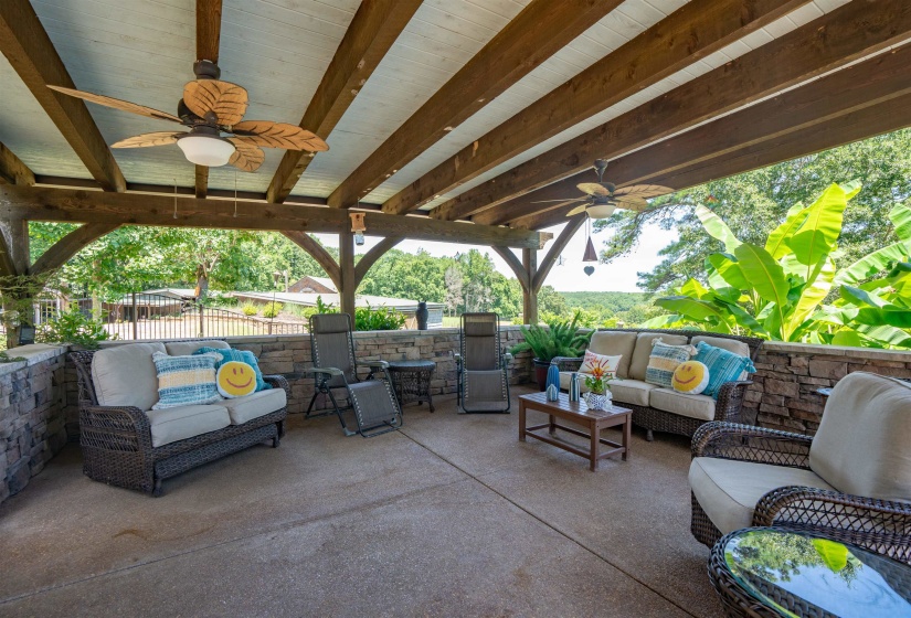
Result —
M61 345L23 345L0 363L0 502L22 491L29 479L66 444L64 354Z

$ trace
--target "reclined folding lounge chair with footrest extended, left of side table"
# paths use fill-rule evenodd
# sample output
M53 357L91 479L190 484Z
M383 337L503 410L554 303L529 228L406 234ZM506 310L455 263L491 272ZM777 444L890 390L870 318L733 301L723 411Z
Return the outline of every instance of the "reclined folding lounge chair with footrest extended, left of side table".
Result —
M307 418L317 397L326 395L332 408L315 416L336 414L346 436L360 434L371 438L392 431L402 426L402 411L390 387L385 361L358 363L354 360L354 338L351 334L351 316L348 313L319 313L310 317L310 351L314 366L306 370L316 379L314 396L307 408ZM369 366L364 381L358 377L358 365ZM385 380L374 380L380 371ZM348 399L345 408L339 407L336 393ZM353 409L358 430L352 431L345 423L342 412Z

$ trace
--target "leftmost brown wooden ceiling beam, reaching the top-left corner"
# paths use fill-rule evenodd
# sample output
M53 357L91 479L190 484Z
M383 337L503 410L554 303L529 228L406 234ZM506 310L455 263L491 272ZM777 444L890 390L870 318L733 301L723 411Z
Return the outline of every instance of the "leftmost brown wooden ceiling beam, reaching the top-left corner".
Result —
M75 88L51 38L29 0L0 2L0 52L70 142L92 177L106 191L125 191L127 182L102 131L78 98L55 93L49 84Z

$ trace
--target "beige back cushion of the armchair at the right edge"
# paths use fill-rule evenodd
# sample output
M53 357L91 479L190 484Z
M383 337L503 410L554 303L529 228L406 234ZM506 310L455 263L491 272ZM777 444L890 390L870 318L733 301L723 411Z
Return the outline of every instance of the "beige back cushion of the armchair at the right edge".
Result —
M911 501L911 384L850 373L829 395L809 467L838 491Z

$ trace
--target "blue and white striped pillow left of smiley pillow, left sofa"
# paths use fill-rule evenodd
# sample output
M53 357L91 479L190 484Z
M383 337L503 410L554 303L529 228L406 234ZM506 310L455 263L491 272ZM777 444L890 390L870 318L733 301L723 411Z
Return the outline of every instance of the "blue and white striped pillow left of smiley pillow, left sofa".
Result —
M155 352L152 362L158 373L158 403L152 409L165 409L221 401L215 386L218 354L169 356Z

